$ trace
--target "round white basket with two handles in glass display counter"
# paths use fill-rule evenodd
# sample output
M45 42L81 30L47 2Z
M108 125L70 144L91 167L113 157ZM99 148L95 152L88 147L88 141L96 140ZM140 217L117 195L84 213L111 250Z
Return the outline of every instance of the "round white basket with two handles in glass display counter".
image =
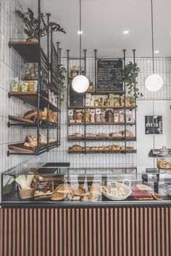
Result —
M125 185L125 182L128 182L129 183L129 186ZM115 182L112 182L112 183L115 183ZM127 199L128 197L130 197L130 194L131 194L131 189L130 189L130 180L128 179L125 179L123 182L122 182L122 187L128 191L128 194L126 194L125 196L114 196L113 194L109 194L108 190L107 190L107 187L106 186L101 186L101 193L107 197L108 199L112 200L112 201L120 201L120 200L125 200Z

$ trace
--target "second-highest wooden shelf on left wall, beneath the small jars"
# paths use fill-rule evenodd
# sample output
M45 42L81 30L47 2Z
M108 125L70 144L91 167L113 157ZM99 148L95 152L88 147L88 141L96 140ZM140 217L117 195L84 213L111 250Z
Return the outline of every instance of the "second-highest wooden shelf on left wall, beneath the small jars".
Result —
M38 94L36 92L34 92L34 93L9 92L8 96L9 96L9 98L14 96L17 99L21 99L23 102L28 103L28 104L32 105L33 107L38 106ZM49 100L46 99L45 96L40 94L40 109L43 110L43 108L46 107L46 105L48 103L49 103L50 110L52 110L54 112L59 111L59 109L56 106L54 106L54 104L51 104L51 102L49 102Z

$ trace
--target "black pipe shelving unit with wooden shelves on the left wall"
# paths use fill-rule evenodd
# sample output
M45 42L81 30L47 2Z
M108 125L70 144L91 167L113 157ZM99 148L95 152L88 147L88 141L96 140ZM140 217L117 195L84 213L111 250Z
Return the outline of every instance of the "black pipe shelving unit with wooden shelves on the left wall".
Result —
M9 122L7 123L8 128L11 126L22 126L23 128L36 128L37 129L37 141L39 141L40 129L46 129L47 134L47 144L41 146L38 144L33 152L28 152L27 150L23 152L16 152L9 150L7 155L19 154L19 155L39 155L44 152L49 152L50 149L54 149L60 145L60 96L58 92L58 78L57 72L60 63L59 56L59 43L57 43L57 51L53 43L52 29L49 30L50 24L50 14L47 13L47 22L45 22L43 15L41 15L41 0L38 0L38 21L39 21L39 31L41 30L41 24L46 29L47 33L47 45L46 52L43 51L41 47L41 36L38 35L38 42L33 41L9 41L9 48L17 51L17 54L22 57L24 62L36 62L38 63L38 90L35 93L14 93L9 92L8 96L17 97L22 100L23 103L30 104L36 107L37 113L47 107L48 115L47 120L39 120L39 115L37 119L33 122L28 123L27 120L17 120L17 117L9 116ZM57 96L57 105L54 105L49 100L49 91L53 92ZM57 123L53 123L49 120L49 110L57 113ZM57 130L57 140L54 142L49 142L49 129ZM12 144L14 146L14 144ZM9 145L10 148L10 145Z

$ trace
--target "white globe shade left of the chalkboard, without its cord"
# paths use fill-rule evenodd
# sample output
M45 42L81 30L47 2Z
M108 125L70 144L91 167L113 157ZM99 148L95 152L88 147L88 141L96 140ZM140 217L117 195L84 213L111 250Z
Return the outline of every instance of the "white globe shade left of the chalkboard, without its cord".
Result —
M89 81L85 75L77 75L72 80L72 88L74 89L74 91L80 94L87 91L88 87L89 87Z

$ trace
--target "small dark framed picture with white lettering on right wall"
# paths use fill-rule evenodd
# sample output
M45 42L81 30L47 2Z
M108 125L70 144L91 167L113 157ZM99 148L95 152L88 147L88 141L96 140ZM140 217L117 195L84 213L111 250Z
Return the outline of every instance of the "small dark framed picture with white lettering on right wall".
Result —
M146 134L162 134L162 115L145 116Z

